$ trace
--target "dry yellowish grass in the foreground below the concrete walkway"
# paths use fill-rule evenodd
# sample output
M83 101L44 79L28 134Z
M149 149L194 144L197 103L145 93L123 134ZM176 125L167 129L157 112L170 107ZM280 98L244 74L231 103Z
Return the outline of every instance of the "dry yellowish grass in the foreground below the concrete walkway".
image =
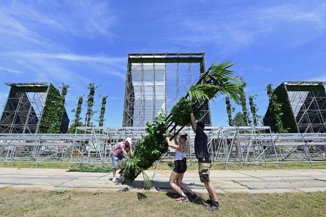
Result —
M207 195L200 195L206 200ZM175 194L143 191L78 192L0 188L6 216L324 216L326 193L222 194L221 212L203 202L174 201Z

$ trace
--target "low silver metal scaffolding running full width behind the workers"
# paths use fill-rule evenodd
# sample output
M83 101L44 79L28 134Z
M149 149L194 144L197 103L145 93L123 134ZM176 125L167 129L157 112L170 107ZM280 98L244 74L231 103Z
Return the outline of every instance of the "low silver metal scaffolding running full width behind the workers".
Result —
M0 134L0 161L107 164L117 142L131 137L135 144L146 135L145 127L77 127L83 134ZM178 128L176 129L178 130ZM215 164L259 164L325 161L324 133L265 133L269 127L206 127L208 147ZM185 127L193 164L195 133ZM170 149L163 161L173 160ZM157 164L161 161L157 161Z

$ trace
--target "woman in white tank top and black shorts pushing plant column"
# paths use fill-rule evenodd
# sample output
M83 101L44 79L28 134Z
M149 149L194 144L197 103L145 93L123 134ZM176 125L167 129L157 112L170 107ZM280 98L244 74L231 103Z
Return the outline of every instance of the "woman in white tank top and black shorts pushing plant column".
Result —
M187 185L182 183L183 174L187 170L186 164L186 152L188 151L187 145L187 136L181 135L179 138L179 142L177 141L177 135L174 137L175 144L172 144L170 141L170 132L167 132L167 142L169 147L175 149L175 160L174 160L174 168L170 176L170 185L175 191L180 194L180 197L176 199L178 202L188 201L187 196L182 192L184 189L189 197L198 199L197 194L195 194L192 189L190 189Z

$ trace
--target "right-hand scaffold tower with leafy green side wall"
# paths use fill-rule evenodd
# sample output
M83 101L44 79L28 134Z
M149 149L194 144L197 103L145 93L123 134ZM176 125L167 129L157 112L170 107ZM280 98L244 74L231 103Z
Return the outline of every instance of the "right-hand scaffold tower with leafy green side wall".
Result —
M288 132L326 132L326 82L283 82L275 89L277 101L282 103L282 123ZM269 106L264 125L274 131Z

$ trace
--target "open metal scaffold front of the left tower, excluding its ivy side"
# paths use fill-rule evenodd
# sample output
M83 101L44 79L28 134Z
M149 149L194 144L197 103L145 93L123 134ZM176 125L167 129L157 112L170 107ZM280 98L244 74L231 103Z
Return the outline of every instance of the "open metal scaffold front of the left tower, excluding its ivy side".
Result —
M49 83L5 83L10 92L0 120L0 133L36 133Z

